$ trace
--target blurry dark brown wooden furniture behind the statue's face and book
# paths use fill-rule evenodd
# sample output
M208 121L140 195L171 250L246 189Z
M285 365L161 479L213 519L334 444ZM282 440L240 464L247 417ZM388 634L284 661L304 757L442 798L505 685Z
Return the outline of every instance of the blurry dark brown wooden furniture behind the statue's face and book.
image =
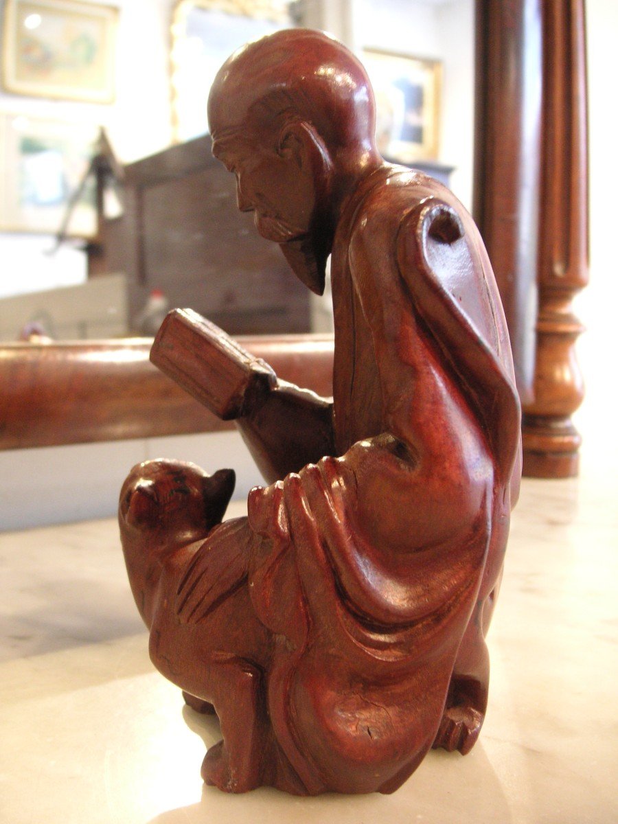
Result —
M170 307L195 307L234 335L309 332L307 290L238 212L210 147L206 135L121 166L102 140L89 277L126 274L131 321L157 288Z

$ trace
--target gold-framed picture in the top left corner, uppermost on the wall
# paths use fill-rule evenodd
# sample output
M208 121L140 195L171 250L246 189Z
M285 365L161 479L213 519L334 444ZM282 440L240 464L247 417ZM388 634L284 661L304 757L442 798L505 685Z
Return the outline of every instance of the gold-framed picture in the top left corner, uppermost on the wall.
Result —
M6 0L2 80L20 95L110 103L118 9L77 0Z

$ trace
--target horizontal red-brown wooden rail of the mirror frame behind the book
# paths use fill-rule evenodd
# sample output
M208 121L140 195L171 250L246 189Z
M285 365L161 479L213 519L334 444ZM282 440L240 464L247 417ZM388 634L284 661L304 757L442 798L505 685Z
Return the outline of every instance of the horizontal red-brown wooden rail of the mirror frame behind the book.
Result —
M330 395L328 335L241 338L288 381ZM0 449L162 438L233 428L148 360L152 339L0 346Z

